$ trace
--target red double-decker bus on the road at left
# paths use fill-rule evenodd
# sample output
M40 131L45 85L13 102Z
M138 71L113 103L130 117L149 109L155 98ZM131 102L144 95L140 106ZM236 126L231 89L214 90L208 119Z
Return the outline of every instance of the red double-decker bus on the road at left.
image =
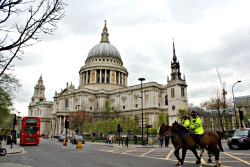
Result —
M40 117L23 117L20 145L38 145L39 142Z

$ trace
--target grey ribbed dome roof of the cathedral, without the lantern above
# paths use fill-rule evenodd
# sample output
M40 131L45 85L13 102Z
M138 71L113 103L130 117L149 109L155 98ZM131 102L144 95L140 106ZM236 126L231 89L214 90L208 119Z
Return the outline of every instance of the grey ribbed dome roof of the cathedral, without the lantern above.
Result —
M88 54L87 59L92 57L112 57L121 60L119 51L109 43L99 43L95 45Z

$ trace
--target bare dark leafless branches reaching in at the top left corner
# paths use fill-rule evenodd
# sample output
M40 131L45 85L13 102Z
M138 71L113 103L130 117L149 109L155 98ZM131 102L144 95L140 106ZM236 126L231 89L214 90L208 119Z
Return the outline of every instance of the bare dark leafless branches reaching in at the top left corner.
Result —
M0 76L13 68L15 58L22 60L24 47L41 41L39 34L57 29L64 7L62 0L0 1Z

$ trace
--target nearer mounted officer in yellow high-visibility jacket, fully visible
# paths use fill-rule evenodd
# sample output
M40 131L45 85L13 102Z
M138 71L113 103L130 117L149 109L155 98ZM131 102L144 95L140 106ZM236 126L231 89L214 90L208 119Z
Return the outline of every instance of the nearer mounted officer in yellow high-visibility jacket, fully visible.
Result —
M191 115L190 129L193 130L194 133L195 133L195 141L196 141L196 143L198 145L198 148L199 148L200 136L203 135L203 133L204 133L204 130L203 130L203 127L202 127L202 121L201 121L200 117L198 117L196 111L192 111L190 113L190 115Z

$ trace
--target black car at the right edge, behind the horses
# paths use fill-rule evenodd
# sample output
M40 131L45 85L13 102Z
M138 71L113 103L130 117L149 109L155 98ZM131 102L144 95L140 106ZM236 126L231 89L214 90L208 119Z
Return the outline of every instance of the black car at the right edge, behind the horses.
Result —
M250 128L236 129L232 138L229 138L227 145L230 149L250 148Z

